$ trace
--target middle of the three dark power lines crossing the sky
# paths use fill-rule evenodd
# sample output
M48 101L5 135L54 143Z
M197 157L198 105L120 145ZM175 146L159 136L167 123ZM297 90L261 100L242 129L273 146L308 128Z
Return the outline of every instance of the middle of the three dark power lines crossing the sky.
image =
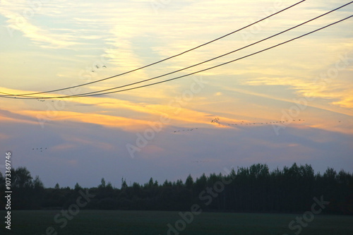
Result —
M140 80L140 81L135 82L135 83L128 83L128 84L126 84L126 85L120 85L120 86L115 87L115 88L109 88L109 89L105 89L105 90L98 90L98 91L95 91L95 92L86 92L86 93L81 93L81 94L78 94L78 95L70 95L70 96L68 96L68 97L76 97L76 96L81 97L81 96L86 96L86 95L95 94L95 93L99 93L99 92L105 92L105 91L108 91L108 90L116 90L116 89L119 89L119 88L125 88L125 87L130 86L130 85L136 85L136 84L138 84L138 83L144 83L144 82L146 82L146 81L148 81L148 80L155 80L155 79L157 79L157 78L162 78L162 77L164 77L164 76L168 76L168 75L171 75L171 74L173 74L173 73L177 73L177 72L180 72L180 71L184 71L184 70L186 70L186 69L188 69L188 68L193 68L193 67L195 67L195 66L198 66L198 65L201 65L201 64L205 64L205 63L207 63L207 62L209 62L209 61L213 61L213 60L215 60L215 59L219 59L219 58L221 58L221 57L223 57L223 56L227 56L227 55L232 54L232 53L234 53L234 52L239 52L241 49L246 49L247 47L251 47L251 46L253 46L253 45L255 45L255 44L258 44L258 43L260 43L260 42L263 42L263 41L265 41L265 40L269 40L269 39L272 38L272 37L275 37L275 36L277 36L277 35L281 35L281 34L283 34L283 33L285 33L285 32L288 32L288 31L290 31L290 30L293 30L294 28L298 28L298 27L301 26L301 25L305 25L306 23L310 23L310 22L313 21L313 20L317 20L318 18L321 18L321 17L323 17L323 16L326 16L326 15L328 15L329 13L333 13L334 11L337 11L338 9L343 8L343 7L345 7L345 6L349 5L349 4L352 4L352 3L353 3L353 1L351 1L351 2L348 3L348 4L342 5L342 6L338 7L338 8L335 8L335 9L333 9L333 10L331 10L331 11L328 11L327 13L323 13L321 16L316 16L315 18L312 18L311 20L307 20L307 21L304 22L304 23L301 23L301 24L299 24L299 25L296 25L296 26L294 26L294 27L292 27L292 28L289 28L289 29L287 29L287 30L284 30L284 31L282 31L282 32L278 32L277 34L272 35L272 36L270 36L270 37L266 37L266 38L263 39L263 40L259 40L259 41L257 41L257 42L253 42L252 44L249 44L249 45L247 45L247 46L245 46L245 47L241 47L241 48L239 48L239 49L235 49L235 50L232 51L232 52L227 52L226 54L222 54L222 55L220 55L220 56L216 56L216 57L214 57L214 58L212 58L212 59L208 59L208 60L206 60L206 61L203 61L203 62L198 63L198 64L194 64L194 65L192 65L192 66L188 66L188 67L186 67L186 68L181 68L181 69L179 69L179 70L177 70L177 71L172 71L172 72L165 73L165 74L163 74L163 75L156 76L156 77L153 77L153 78L148 78L148 79L145 79L145 80ZM42 98L42 97L37 97L37 98ZM63 98L64 98L64 97L63 97Z

